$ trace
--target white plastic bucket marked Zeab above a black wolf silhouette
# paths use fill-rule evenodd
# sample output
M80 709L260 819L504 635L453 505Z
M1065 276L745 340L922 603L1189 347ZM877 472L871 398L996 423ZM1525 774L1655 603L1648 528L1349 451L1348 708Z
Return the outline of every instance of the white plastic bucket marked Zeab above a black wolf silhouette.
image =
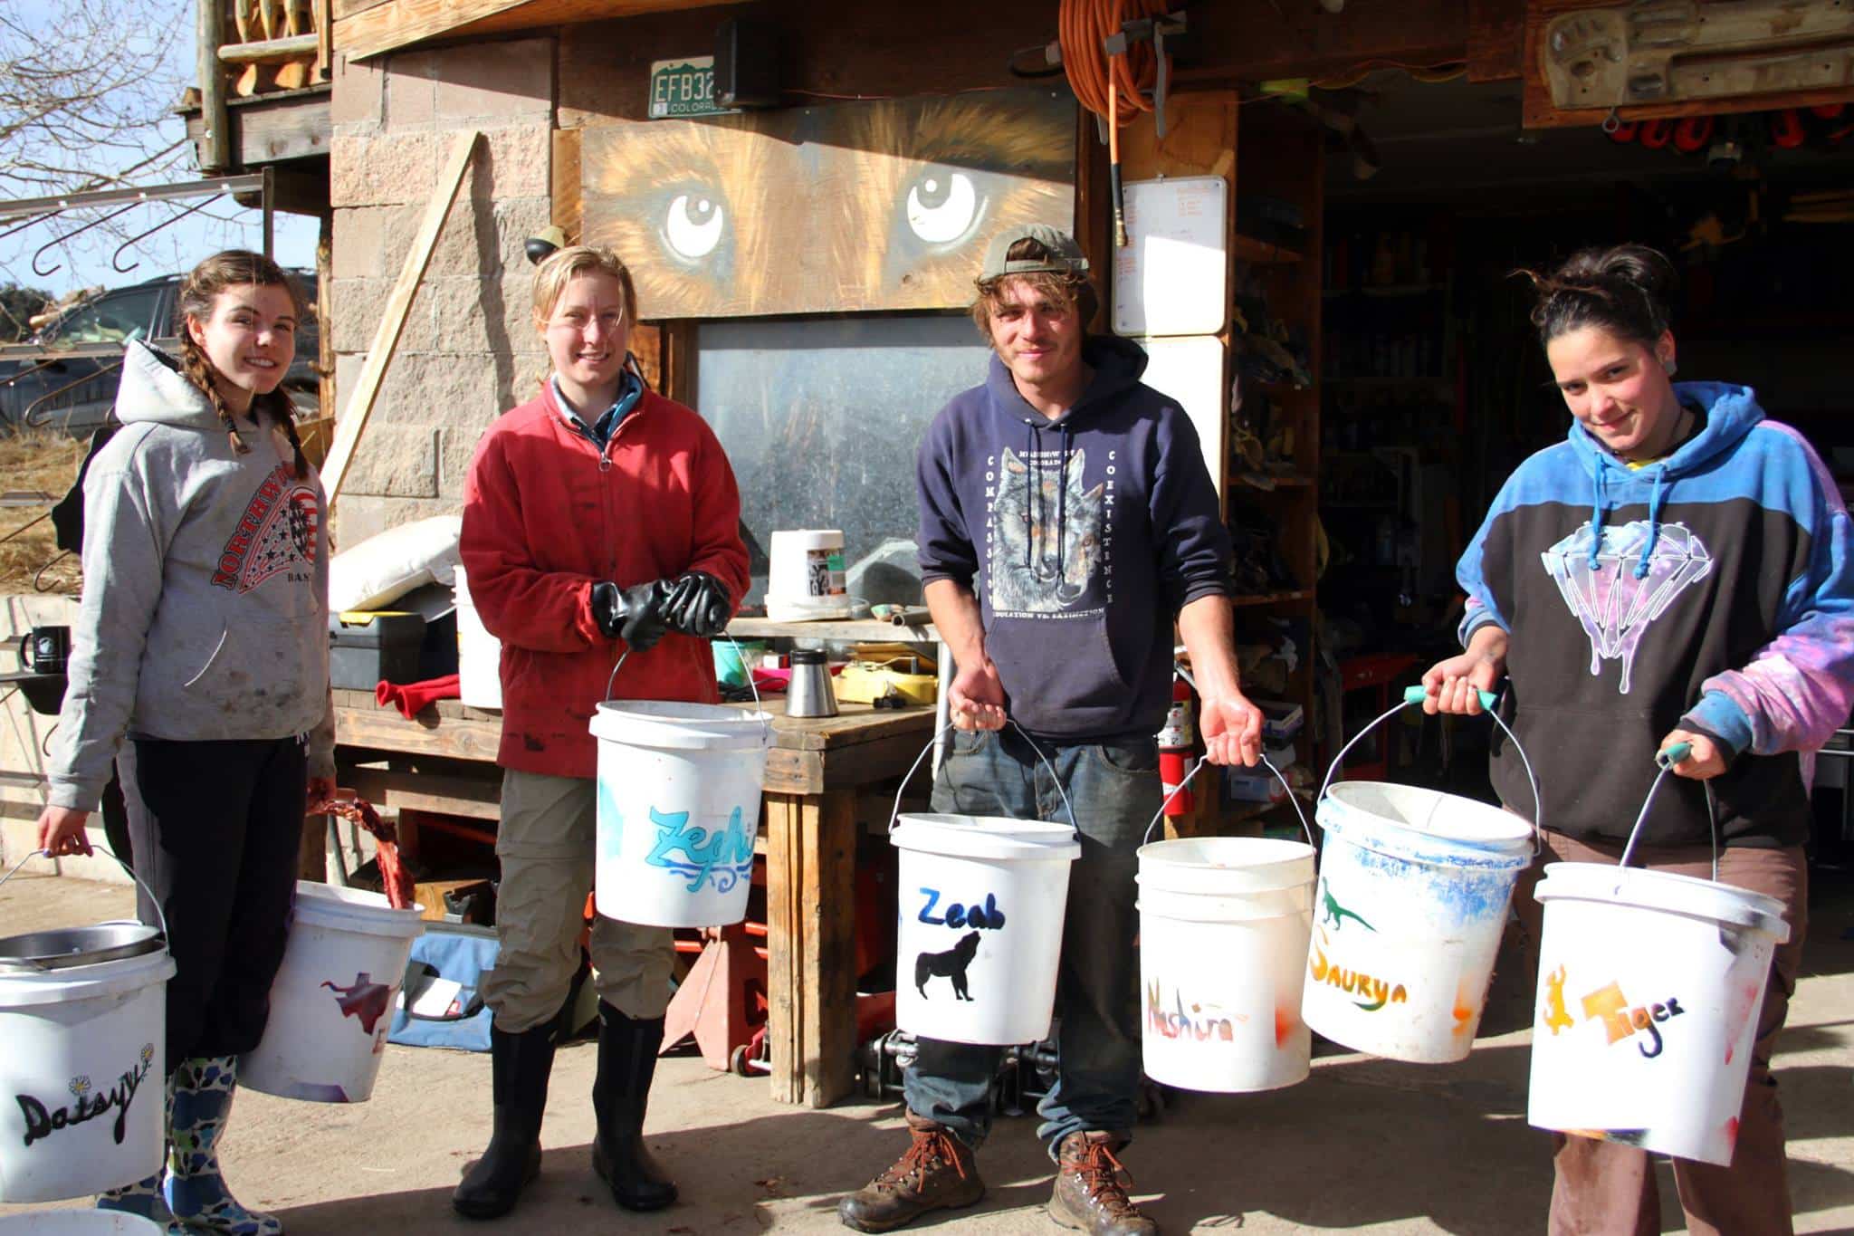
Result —
M1048 1036L1075 830L921 813L888 839L901 851L895 1025L951 1043Z

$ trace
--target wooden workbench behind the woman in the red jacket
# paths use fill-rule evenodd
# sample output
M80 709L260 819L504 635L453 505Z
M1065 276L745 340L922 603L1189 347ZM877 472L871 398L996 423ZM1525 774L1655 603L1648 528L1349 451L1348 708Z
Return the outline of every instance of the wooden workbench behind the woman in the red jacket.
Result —
M502 713L439 700L408 721L369 691L334 695L343 786L376 806L499 819ZM768 1038L782 1103L827 1106L855 1084L857 788L907 773L933 732L931 708L773 717L762 817Z

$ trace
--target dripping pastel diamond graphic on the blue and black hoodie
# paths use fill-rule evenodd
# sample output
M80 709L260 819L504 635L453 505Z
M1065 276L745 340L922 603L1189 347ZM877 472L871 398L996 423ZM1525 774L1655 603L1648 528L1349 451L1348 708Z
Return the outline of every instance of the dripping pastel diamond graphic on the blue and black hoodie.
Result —
M1635 578L1643 549L1650 541L1654 549L1648 550L1648 571ZM1622 695L1628 695L1635 649L1641 647L1648 623L1713 569L1713 556L1685 524L1659 524L1656 532L1656 524L1646 519L1604 528L1594 560L1589 521L1539 558L1557 580L1557 591L1583 624L1583 634L1591 637L1591 675L1602 673L1604 660L1620 658Z

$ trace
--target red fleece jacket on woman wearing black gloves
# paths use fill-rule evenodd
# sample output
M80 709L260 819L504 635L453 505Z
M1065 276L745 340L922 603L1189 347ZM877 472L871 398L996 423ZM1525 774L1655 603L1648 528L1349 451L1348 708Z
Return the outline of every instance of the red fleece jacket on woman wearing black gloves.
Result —
M714 430L651 391L601 454L541 397L502 413L464 482L464 569L482 624L502 641L497 763L593 776L588 732L625 643L606 639L588 599L706 571L738 604L747 591L740 487ZM667 634L625 662L614 699L714 702L706 639Z

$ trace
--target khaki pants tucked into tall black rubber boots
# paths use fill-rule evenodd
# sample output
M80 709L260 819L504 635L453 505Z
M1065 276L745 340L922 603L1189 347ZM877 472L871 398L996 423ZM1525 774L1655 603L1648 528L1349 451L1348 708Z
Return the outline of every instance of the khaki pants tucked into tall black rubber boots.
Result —
M482 999L499 1030L521 1034L560 1012L578 969L578 938L597 854L597 786L584 776L502 771L502 823L495 854L495 969ZM667 927L597 915L591 964L599 999L627 1017L662 1017L675 960Z

